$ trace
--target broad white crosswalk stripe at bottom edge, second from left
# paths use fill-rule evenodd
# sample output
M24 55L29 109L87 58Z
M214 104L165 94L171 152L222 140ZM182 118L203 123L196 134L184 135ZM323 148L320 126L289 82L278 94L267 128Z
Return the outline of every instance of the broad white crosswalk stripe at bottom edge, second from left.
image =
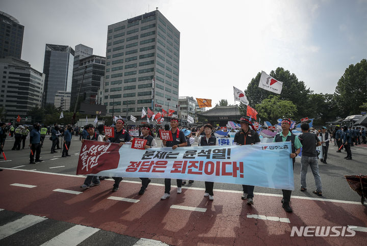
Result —
M53 239L43 243L42 245L77 245L97 231L99 231L98 228L76 225L54 237Z

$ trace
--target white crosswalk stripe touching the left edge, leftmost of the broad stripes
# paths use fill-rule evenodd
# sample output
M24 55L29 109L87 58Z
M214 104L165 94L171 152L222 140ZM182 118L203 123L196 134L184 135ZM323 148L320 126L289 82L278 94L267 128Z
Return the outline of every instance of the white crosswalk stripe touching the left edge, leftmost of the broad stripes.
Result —
M16 221L9 222L4 226L0 226L0 239L8 237L14 233L24 230L25 228L33 226L44 220L47 220L47 218L35 215L25 215Z

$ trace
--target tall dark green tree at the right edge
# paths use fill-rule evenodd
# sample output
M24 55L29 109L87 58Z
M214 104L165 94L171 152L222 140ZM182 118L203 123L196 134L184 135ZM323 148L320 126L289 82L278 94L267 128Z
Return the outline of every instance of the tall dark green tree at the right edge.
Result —
M367 98L367 60L349 65L335 88L337 105L343 116L360 114Z

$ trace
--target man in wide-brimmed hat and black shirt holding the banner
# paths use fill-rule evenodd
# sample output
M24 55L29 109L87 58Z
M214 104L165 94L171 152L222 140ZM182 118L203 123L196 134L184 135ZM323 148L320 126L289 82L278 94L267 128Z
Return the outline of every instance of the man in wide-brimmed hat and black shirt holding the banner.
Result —
M250 118L247 116L242 116L240 120L237 120L237 123L241 125L241 130L235 133L233 144L237 145L254 145L260 143L260 138L257 132L254 130L253 125L250 121ZM251 128L250 128L251 126ZM255 186L253 185L242 185L243 195L241 196L242 200L247 199L247 204L253 204L253 190Z

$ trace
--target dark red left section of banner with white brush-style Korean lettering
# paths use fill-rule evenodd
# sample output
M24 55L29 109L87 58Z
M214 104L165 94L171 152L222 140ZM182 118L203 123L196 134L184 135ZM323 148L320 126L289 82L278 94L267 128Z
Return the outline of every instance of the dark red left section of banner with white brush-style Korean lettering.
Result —
M103 170L117 168L120 159L119 149L119 145L115 143L85 140L79 155L76 174L96 174Z

